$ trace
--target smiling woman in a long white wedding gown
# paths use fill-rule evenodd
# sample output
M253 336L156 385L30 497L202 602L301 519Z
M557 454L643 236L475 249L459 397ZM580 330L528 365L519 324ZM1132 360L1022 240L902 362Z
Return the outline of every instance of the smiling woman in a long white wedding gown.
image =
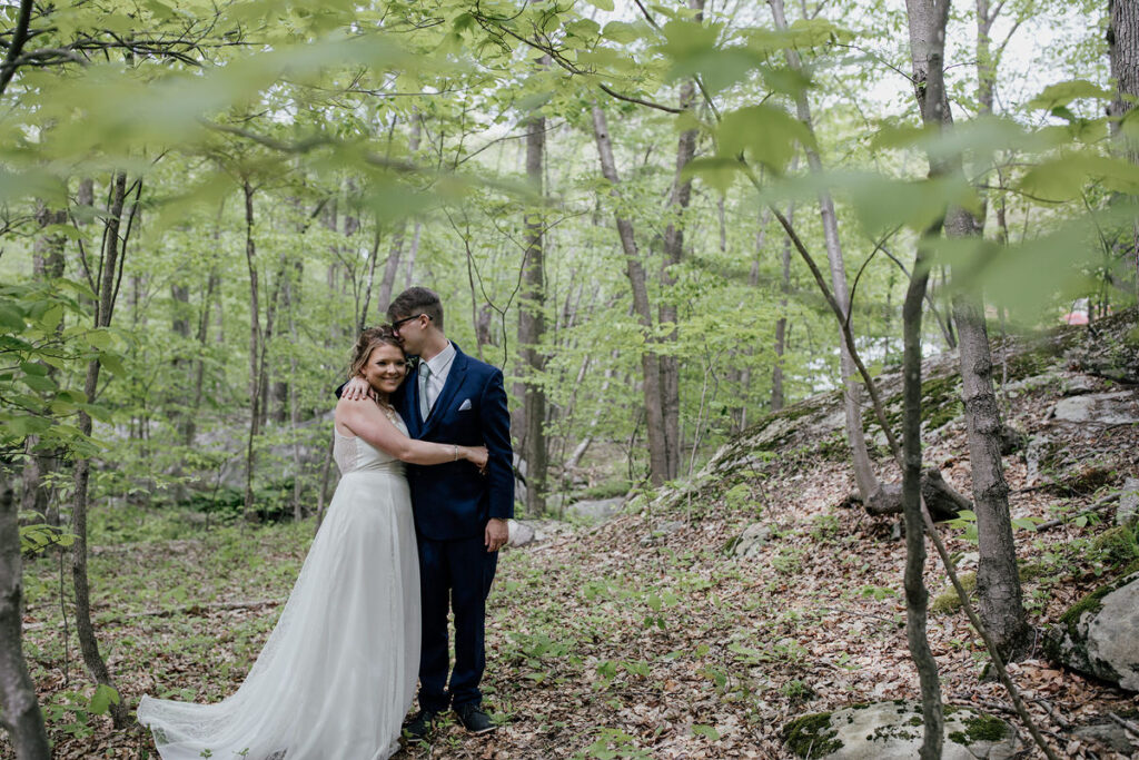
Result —
M336 404L341 482L245 683L216 704L139 704L164 760L384 760L399 750L419 668L419 567L401 461L482 468L486 449L408 438L388 404L407 374L391 329L360 335L351 374L376 400Z

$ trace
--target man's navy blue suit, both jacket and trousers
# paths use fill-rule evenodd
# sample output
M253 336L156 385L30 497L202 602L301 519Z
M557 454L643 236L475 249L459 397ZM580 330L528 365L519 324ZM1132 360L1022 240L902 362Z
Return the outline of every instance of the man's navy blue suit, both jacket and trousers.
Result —
M435 712L449 704L482 701L486 596L498 566L498 553L486 551L484 532L491 517L514 516L510 414L502 373L457 345L454 350L446 382L426 420L419 416L417 371L392 399L411 438L482 444L490 452L485 475L466 460L407 468L423 608L419 706ZM454 670L448 689L449 606L454 612Z

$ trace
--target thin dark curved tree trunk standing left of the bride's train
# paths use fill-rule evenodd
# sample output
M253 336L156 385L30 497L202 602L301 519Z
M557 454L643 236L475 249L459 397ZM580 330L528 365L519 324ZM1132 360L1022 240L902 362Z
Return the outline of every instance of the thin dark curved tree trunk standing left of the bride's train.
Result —
M110 207L108 209L107 224L104 232L103 265L98 285L98 301L95 304L95 327L103 328L110 325L110 314L114 310L114 293L117 283L117 275L122 271L123 262L120 250L120 229L123 220L123 203L126 198L126 174L117 173L114 178ZM137 203L137 201L136 201ZM91 359L87 366L87 381L83 384L83 392L90 402L95 402L99 387L99 369L101 365L97 358ZM79 411L79 430L83 435L91 435L91 416L85 410ZM75 586L75 632L79 636L80 651L83 653L83 662L96 683L115 688L107 670L107 663L99 654L99 641L95 636L95 627L91 623L91 589L87 573L87 510L88 489L91 479L91 460L88 458L75 461L74 483L75 495L72 501L72 533L75 541L72 544L72 579ZM117 693L117 689L116 689ZM115 728L125 728L129 722L126 704L118 701L110 705L110 716Z

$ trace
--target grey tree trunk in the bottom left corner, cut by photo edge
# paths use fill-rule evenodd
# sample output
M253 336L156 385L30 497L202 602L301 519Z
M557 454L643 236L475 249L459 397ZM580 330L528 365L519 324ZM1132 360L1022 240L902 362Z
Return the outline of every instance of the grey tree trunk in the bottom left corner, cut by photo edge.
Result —
M11 471L0 465L0 726L8 732L16 760L49 760L51 749L35 684L23 649L24 570Z

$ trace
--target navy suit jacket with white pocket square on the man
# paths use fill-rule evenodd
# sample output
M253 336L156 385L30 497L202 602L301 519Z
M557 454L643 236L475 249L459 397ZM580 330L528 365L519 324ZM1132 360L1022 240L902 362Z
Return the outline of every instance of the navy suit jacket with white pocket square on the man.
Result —
M485 446L486 474L472 463L408 465L416 530L432 540L482 536L491 517L514 516L514 452L502 373L454 346L446 383L424 420L419 416L419 368L392 402L411 438L436 443Z

